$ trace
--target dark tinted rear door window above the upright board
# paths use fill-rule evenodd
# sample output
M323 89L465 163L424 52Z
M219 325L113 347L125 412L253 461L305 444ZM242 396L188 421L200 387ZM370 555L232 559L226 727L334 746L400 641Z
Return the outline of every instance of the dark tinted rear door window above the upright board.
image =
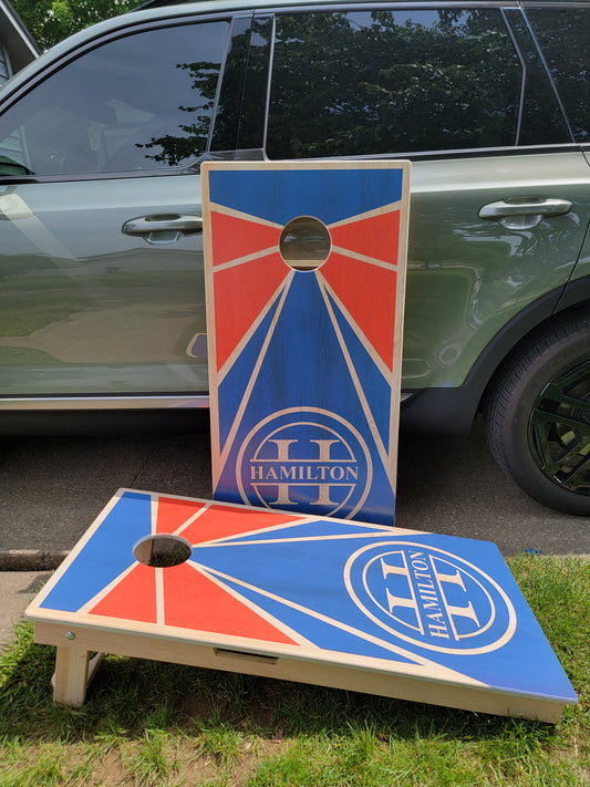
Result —
M278 15L267 151L514 145L521 83L499 9Z

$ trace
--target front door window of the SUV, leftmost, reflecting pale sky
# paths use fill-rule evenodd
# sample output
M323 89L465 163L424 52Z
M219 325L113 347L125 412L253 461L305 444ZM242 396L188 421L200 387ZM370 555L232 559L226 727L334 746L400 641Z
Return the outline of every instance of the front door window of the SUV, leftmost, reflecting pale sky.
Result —
M104 43L0 117L0 173L73 175L180 166L207 147L228 21Z

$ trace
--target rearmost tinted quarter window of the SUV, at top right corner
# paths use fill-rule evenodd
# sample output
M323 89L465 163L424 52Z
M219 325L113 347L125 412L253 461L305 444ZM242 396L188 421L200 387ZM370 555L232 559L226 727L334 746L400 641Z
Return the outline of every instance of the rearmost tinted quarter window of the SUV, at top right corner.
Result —
M590 9L528 9L573 136L590 142Z

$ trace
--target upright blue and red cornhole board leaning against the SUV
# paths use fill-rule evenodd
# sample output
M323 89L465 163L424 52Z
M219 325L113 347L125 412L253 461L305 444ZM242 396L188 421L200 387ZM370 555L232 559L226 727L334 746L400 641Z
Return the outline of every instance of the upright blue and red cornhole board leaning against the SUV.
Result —
M201 180L214 498L393 525L410 163Z

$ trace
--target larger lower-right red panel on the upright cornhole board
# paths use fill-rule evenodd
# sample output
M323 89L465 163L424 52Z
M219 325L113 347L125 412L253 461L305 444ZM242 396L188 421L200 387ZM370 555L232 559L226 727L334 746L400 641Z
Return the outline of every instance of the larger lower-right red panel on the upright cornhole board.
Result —
M321 275L383 363L392 370L396 272L332 252Z

